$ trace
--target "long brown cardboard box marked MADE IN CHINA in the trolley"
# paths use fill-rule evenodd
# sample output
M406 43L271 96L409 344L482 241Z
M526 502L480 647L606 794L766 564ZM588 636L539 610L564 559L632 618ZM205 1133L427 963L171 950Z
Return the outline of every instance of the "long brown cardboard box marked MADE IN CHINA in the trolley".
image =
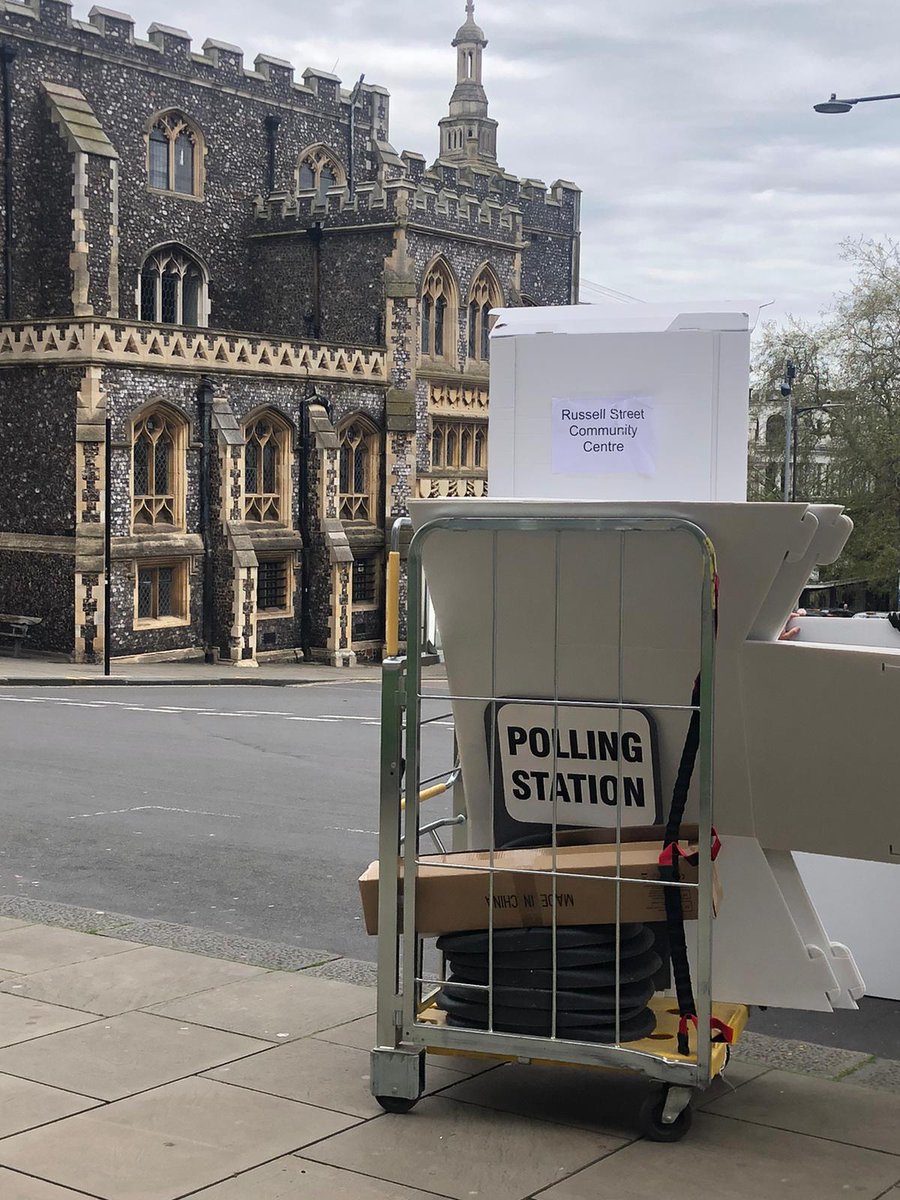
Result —
M694 847L690 847L691 850ZM623 880L659 880L661 841L629 842L622 846ZM556 880L534 874L552 870L552 851L498 850L493 856L493 894L487 851L462 854L431 854L420 859L416 878L416 929L430 936L467 929L486 929L493 910L494 929L551 925L556 906L558 925L602 925L616 920L616 847L610 845L558 846ZM473 870L472 868L482 868ZM682 859L680 880L697 882L697 869ZM359 881L366 930L378 932L378 863ZM684 916L696 919L698 893L682 890ZM719 881L713 868L713 910L719 907ZM647 883L622 884L623 922L665 920L664 888Z

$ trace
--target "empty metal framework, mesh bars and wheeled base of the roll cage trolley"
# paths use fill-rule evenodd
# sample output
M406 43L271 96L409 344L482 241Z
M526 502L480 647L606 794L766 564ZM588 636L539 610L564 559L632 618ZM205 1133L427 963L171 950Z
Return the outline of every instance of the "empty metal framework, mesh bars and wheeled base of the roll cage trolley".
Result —
M409 524L409 518L404 518ZM419 1100L425 1091L425 1055L426 1051L480 1056L497 1062L578 1066L601 1068L606 1070L631 1070L647 1076L654 1082L641 1110L642 1132L658 1141L677 1141L690 1128L691 1100L695 1093L706 1090L724 1070L728 1062L731 1043L743 1032L748 1009L736 1003L714 1003L712 997L712 952L714 919L714 858L718 853L718 838L713 826L713 686L715 666L715 630L718 581L715 570L715 551L703 530L684 520L662 517L527 517L527 516L446 516L430 521L420 528L409 546L408 557L408 642L406 655L397 653L397 616L400 595L400 554L398 528L394 529L392 553L388 569L388 656L383 665L382 694L382 751L380 751L380 814L379 814L379 888L378 888L378 1015L377 1046L372 1051L371 1087L372 1093L386 1111L407 1112ZM583 1031L571 1028L560 1022L560 1009L564 1007L562 996L570 995L558 986L558 959L565 946L559 931L563 925L557 922L557 907L552 907L552 924L542 935L545 944L548 940L551 954L552 982L550 988L547 1028L536 1032L522 1032L521 1026L511 1032L498 1028L503 1025L498 1013L509 1012L496 1003L496 955L494 955L494 908L493 887L496 872L500 865L494 856L500 850L487 847L488 862L484 870L488 874L491 902L487 905L486 938L486 980L479 983L454 983L451 992L466 995L468 989L479 1004L486 1006L486 1019L480 1022L454 1021L448 1014L445 992L448 982L446 956L442 956L440 966L433 971L426 970L434 959L427 948L425 937L416 929L416 889L404 887L404 880L415 880L422 862L420 850L422 835L431 835L432 841L443 853L440 840L442 827L456 827L455 841L467 817L458 762L445 774L443 781L434 784L433 779L421 775L421 733L430 724L422 719L422 702L434 701L433 695L422 690L422 641L424 641L424 588L422 551L430 539L437 533L466 533L480 530L493 539L493 569L497 571L497 539L504 532L517 534L535 533L556 538L557 566L559 566L560 539L569 533L587 535L618 535L620 566L618 598L618 694L614 698L582 701L580 707L616 709L619 730L623 716L634 709L635 702L624 700L625 648L623 646L624 626L624 554L629 539L641 538L646 533L688 534L696 544L702 565L700 581L700 673L694 684L690 703L654 704L649 697L641 697L640 707L644 710L666 710L670 714L680 712L680 720L686 720L688 733L684 742L680 763L674 779L662 779L662 794L671 796L671 808L660 854L659 878L635 880L622 874L622 804L616 802L614 828L614 871L602 874L606 886L614 883L616 923L604 926L614 944L614 1009L608 1016L608 1036L602 1040L582 1039ZM527 703L553 706L553 720L568 702L558 694L558 634L559 634L559 574L556 578L556 646L553 655L554 695L542 700L528 700ZM492 631L492 655L496 654L496 592L492 593L494 630ZM391 628L392 626L392 628ZM697 626L695 626L697 628ZM448 647L450 653L450 648ZM486 696L454 696L449 700L456 706L466 702L478 702L490 706L490 730L497 728L496 713L498 706L521 697L498 695L496 680L496 661L491 664L491 694ZM442 702L445 701L443 694ZM442 714L444 721L448 714ZM438 721L442 718L431 718ZM558 734L558 725L556 732ZM679 726L680 728L680 726ZM553 775L556 778L556 755L558 740L553 742ZM454 738L454 758L456 760L456 737ZM618 758L619 756L617 756ZM488 755L491 774L494 772L494 755ZM695 769L696 768L696 769ZM618 761L619 788L622 796L622 763ZM694 779L694 776L696 778ZM696 852L691 864L696 864L696 882L685 882L679 877L679 864L686 858L685 848L679 845L683 839L682 817L688 799L688 791L694 779L697 797L697 838ZM422 823L421 802L442 792L454 791L455 815L437 821ZM493 778L491 778L491 794ZM418 803L407 803L414 797ZM552 827L548 829L546 845L552 853L552 868L539 872L545 878L547 890L556 896L558 883L564 883L564 870L557 868L557 800L552 803ZM491 828L493 830L493 816ZM571 828L566 826L565 828ZM658 834L659 836L659 834ZM691 840L692 836L691 836ZM610 841L612 845L612 841ZM434 863L434 857L430 863ZM502 860L500 860L502 862ZM509 871L509 868L504 868ZM622 889L652 886L664 888L665 896L665 954L671 961L670 979L674 983L674 995L655 994L648 1001L653 1016L653 1032L637 1040L623 1038L623 1006L628 1001L628 979L623 980L624 960L620 948L629 929L620 920ZM692 890L696 901L691 912L696 911L696 950L695 971L688 965L685 947L685 928L683 907L686 907L688 893ZM683 906L683 900L685 905ZM608 918L607 918L608 920ZM596 926L598 929L600 926ZM632 928L632 926L630 926ZM562 959L560 959L562 960ZM533 972L538 976L541 972ZM545 972L545 974L547 974ZM634 985L632 985L634 986ZM461 991L462 989L462 991ZM510 989L505 989L509 994ZM612 990L610 996L612 996ZM450 1007L450 1006L448 1006ZM611 1006L612 1007L612 1006ZM497 1012L496 1012L497 1010ZM628 1013L625 1014L628 1016ZM614 1025L612 1016L614 1016ZM506 1022L508 1024L508 1022ZM480 1025L480 1027L479 1027ZM628 1032L628 1030L625 1030ZM614 1079L614 1076L612 1076Z

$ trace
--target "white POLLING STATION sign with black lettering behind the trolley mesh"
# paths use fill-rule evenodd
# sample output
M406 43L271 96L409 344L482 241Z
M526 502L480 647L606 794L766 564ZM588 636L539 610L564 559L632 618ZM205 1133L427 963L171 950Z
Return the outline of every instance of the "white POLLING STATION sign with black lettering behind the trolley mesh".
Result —
M523 824L614 829L662 820L655 727L638 708L522 704L497 712L497 796Z

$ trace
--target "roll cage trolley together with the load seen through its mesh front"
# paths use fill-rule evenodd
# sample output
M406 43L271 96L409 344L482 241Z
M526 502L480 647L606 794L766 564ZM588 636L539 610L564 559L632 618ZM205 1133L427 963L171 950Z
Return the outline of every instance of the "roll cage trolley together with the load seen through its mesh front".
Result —
M439 821L421 803L425 577L462 769ZM746 1016L709 985L715 606L714 550L686 521L460 516L414 535L382 712L386 1109L416 1103L428 1049L640 1072L662 1085L646 1132L686 1130ZM424 835L445 824L457 852L436 854Z

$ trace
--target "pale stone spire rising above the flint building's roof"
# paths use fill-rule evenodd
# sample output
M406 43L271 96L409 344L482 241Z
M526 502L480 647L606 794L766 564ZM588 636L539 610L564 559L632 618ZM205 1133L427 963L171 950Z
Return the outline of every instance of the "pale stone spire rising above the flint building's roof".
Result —
M440 121L440 157L452 163L497 167L497 121L487 115L481 68L487 38L475 22L475 0L466 0L466 22L452 41L456 88L450 115Z

